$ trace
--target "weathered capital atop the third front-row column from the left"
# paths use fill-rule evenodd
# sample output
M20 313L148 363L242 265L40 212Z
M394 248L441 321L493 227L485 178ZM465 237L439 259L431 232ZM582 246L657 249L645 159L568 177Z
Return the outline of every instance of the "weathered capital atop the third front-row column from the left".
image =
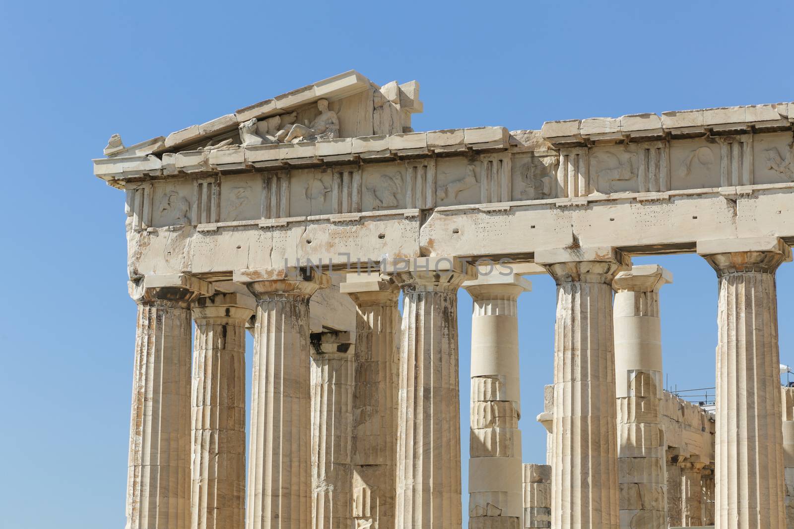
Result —
M476 268L457 257L392 259L381 271L405 292L455 292L477 277Z

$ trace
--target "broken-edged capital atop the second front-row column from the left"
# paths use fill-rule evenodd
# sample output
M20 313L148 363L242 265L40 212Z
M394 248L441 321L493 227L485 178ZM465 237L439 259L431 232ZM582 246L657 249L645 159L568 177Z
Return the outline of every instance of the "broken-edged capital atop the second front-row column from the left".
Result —
M331 278L313 268L249 268L234 270L235 282L245 283L256 300L272 294L311 297L318 289L328 288Z

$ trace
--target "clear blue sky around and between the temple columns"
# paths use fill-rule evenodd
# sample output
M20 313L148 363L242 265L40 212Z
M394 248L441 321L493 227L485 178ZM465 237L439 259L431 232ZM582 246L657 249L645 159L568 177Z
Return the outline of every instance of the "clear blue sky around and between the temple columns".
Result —
M135 305L124 197L91 174L112 133L133 144L349 69L417 79L417 130L792 101L791 18L762 1L0 2L0 529L124 525ZM669 380L714 385L715 275L696 255L635 262L675 274ZM794 363L792 292L787 264ZM554 302L542 277L519 304L526 462L545 457ZM461 292L464 492L470 304Z

